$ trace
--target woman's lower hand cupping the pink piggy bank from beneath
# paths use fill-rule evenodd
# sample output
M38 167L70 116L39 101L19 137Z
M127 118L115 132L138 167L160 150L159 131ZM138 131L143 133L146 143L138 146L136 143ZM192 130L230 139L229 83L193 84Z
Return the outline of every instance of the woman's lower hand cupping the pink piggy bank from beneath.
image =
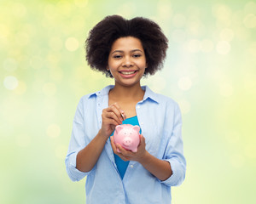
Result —
M145 138L140 134L140 144L137 147L137 152L132 152L131 150L125 150L120 144L114 144L113 136L110 137L111 146L113 153L118 155L124 161L143 161L144 156L147 155ZM117 151L120 150L120 152Z

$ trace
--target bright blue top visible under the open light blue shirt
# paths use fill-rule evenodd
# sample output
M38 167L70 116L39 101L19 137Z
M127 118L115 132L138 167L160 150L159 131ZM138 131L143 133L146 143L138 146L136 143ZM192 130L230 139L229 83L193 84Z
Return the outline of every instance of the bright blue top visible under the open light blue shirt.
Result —
M133 116L133 117L129 117L129 118L125 119L125 121L123 121L123 124L131 124L131 125L134 125L134 126L135 125L139 126L137 116ZM140 133L142 133L142 130L140 130ZM113 135L113 133L111 134L111 136L112 135ZM125 176L126 169L129 165L129 161L123 161L116 154L113 154L113 156L114 156L114 161L116 163L116 166L119 170L120 177L123 179L124 176Z

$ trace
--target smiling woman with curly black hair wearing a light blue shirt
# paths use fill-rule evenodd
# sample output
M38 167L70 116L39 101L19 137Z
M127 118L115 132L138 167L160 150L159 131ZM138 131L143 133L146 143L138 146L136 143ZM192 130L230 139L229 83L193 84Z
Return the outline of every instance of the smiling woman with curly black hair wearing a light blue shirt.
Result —
M160 26L145 18L112 15L90 31L86 59L114 85L82 97L73 120L66 167L73 181L87 176L86 203L171 203L171 186L183 182L179 107L140 83L162 68L166 49ZM137 152L113 143L122 123L141 127Z

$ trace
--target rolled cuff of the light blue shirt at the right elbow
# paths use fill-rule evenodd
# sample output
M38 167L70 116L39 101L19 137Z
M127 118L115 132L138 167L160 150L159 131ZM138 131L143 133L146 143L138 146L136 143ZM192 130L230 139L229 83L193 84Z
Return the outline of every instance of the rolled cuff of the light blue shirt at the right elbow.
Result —
M177 186L183 183L185 178L185 171L181 165L181 163L174 159L166 160L170 163L172 168L172 175L164 181L160 181L162 184L166 184L168 186Z

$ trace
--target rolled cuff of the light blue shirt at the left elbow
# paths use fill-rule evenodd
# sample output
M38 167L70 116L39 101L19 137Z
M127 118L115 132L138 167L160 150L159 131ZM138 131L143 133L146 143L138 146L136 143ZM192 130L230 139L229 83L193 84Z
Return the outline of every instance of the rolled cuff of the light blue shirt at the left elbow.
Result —
M69 154L66 158L66 168L67 168L67 174L69 178L71 178L73 181L79 181L82 178L84 178L88 173L84 173L79 171L79 169L76 168L77 166L77 155L79 151L73 152Z

